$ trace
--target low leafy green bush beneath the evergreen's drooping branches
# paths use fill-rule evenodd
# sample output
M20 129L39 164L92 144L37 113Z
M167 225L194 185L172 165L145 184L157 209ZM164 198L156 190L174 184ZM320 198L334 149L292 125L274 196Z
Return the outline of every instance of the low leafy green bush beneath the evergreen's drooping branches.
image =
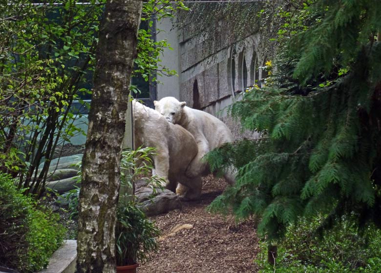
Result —
M354 225L341 221L320 237L315 232L322 217L300 220L278 245L275 266L267 262L267 242L256 259L261 273L373 273L381 268L381 231L374 227L359 234Z

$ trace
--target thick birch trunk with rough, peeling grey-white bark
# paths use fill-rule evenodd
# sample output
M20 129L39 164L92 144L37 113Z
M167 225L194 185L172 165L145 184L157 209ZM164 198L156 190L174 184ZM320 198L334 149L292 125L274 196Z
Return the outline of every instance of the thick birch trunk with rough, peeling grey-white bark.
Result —
M78 273L115 272L120 159L141 0L107 0L96 52L79 200Z

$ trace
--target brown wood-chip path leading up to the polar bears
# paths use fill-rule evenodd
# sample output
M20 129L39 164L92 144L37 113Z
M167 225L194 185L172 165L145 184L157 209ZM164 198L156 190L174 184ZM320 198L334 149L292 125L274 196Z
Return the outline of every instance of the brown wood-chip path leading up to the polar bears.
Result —
M258 252L254 220L236 224L205 208L226 187L204 179L200 200L182 202L181 210L151 217L162 230L160 250L139 266L139 273L255 273ZM178 229L178 230L177 230Z

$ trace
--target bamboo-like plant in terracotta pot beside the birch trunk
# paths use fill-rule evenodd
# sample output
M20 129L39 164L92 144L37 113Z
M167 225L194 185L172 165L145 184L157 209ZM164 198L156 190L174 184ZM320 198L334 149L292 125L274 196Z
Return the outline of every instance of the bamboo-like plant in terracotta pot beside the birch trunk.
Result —
M148 180L152 189L161 179L151 175L152 148L124 151L121 161L121 193L116 211L115 251L117 273L136 273L138 263L149 260L149 252L157 251L160 230L148 219L134 194L137 178ZM143 162L143 164L141 164ZM123 190L123 188L125 190Z

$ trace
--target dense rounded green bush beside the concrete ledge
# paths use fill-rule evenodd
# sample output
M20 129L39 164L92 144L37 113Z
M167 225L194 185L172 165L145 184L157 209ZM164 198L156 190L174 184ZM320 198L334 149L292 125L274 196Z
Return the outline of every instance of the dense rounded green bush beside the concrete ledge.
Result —
M50 209L40 210L0 172L0 265L23 273L46 266L63 241L65 230L58 218Z

